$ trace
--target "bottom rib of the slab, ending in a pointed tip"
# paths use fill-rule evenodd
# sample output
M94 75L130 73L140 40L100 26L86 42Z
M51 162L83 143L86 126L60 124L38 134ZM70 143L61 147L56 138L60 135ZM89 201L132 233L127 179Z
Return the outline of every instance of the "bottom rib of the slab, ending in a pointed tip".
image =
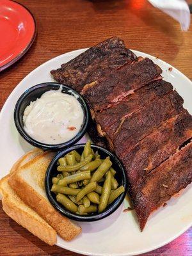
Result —
M141 230L152 212L191 182L192 142L145 176L135 193L132 193Z

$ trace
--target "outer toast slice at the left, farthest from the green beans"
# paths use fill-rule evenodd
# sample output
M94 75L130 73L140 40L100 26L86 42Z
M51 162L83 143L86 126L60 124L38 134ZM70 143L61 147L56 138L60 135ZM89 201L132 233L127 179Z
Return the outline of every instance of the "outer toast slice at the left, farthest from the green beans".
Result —
M56 231L49 226L35 211L24 204L8 184L10 174L0 180L0 193L3 196L3 211L15 220L19 225L26 228L33 235L49 245L56 244Z

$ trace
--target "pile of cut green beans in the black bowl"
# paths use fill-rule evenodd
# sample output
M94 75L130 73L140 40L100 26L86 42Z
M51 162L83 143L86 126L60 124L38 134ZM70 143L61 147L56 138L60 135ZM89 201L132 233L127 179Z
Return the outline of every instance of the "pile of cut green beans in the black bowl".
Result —
M51 193L56 194L56 200L68 211L76 214L85 216L105 211L125 189L118 188L109 156L100 158L100 150L94 152L90 141L81 155L77 151L72 150L58 159L58 173L52 177Z

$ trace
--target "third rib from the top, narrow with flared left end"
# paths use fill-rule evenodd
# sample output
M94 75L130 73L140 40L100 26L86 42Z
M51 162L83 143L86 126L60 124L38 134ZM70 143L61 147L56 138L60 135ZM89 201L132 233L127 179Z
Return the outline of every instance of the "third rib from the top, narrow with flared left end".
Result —
M108 138L113 140L115 131L118 129L122 118L128 117L136 111L144 108L153 100L163 97L168 92L173 90L173 86L163 80L157 80L147 84L137 90L135 93L128 95L125 100L119 102L111 108L104 109L99 113L94 113L97 125L100 125L102 130L101 135L107 134Z

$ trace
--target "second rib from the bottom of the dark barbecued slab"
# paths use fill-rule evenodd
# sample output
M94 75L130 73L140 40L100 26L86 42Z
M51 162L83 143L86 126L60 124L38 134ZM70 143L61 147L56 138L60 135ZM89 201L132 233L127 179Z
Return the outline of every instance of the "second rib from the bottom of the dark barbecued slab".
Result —
M192 138L192 117L185 109L149 134L122 158L127 177L136 185L147 173ZM129 164L127 164L129 163Z

